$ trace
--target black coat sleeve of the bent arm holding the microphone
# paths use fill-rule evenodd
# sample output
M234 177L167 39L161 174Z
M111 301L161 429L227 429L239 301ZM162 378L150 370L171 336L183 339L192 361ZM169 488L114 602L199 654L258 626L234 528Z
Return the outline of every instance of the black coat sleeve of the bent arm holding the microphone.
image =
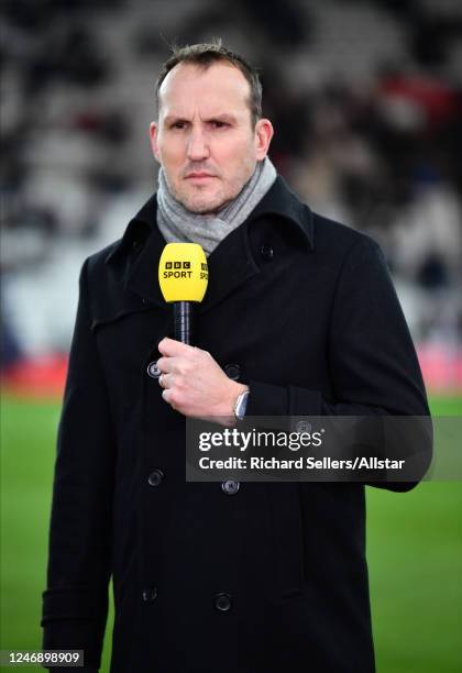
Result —
M331 399L316 389L251 380L246 415L429 418L417 354L385 257L366 236L348 252L339 273L327 353ZM426 438L419 477L431 460L431 431ZM415 483L371 485L407 490Z

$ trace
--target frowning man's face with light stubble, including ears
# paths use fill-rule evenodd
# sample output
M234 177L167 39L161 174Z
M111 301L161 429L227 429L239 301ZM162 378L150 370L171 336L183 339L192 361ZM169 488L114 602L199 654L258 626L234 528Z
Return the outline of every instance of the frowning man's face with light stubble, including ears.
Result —
M152 147L170 192L191 212L220 210L266 156L273 128L265 119L252 128L249 96L244 75L228 63L182 63L162 82Z

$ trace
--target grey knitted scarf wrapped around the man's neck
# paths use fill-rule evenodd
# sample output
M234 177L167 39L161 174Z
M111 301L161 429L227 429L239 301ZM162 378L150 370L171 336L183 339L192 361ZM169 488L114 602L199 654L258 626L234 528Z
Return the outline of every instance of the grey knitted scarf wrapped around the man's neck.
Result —
M165 174L158 172L157 227L167 243L199 243L208 256L233 229L248 219L276 179L276 169L266 157L257 162L250 180L239 195L217 214L196 214L177 201L168 189Z

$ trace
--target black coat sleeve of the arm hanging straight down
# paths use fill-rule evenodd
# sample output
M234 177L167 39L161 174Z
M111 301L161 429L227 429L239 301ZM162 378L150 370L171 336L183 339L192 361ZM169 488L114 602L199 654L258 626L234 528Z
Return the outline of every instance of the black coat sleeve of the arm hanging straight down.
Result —
M87 265L61 417L50 528L44 649L84 650L100 665L111 575L114 440L105 377L90 331Z

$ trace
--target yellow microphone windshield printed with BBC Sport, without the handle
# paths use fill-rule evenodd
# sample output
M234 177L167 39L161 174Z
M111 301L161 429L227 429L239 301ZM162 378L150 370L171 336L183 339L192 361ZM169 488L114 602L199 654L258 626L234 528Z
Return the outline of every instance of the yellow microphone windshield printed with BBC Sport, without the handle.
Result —
M209 271L197 243L167 243L158 263L158 283L165 301L202 301Z

